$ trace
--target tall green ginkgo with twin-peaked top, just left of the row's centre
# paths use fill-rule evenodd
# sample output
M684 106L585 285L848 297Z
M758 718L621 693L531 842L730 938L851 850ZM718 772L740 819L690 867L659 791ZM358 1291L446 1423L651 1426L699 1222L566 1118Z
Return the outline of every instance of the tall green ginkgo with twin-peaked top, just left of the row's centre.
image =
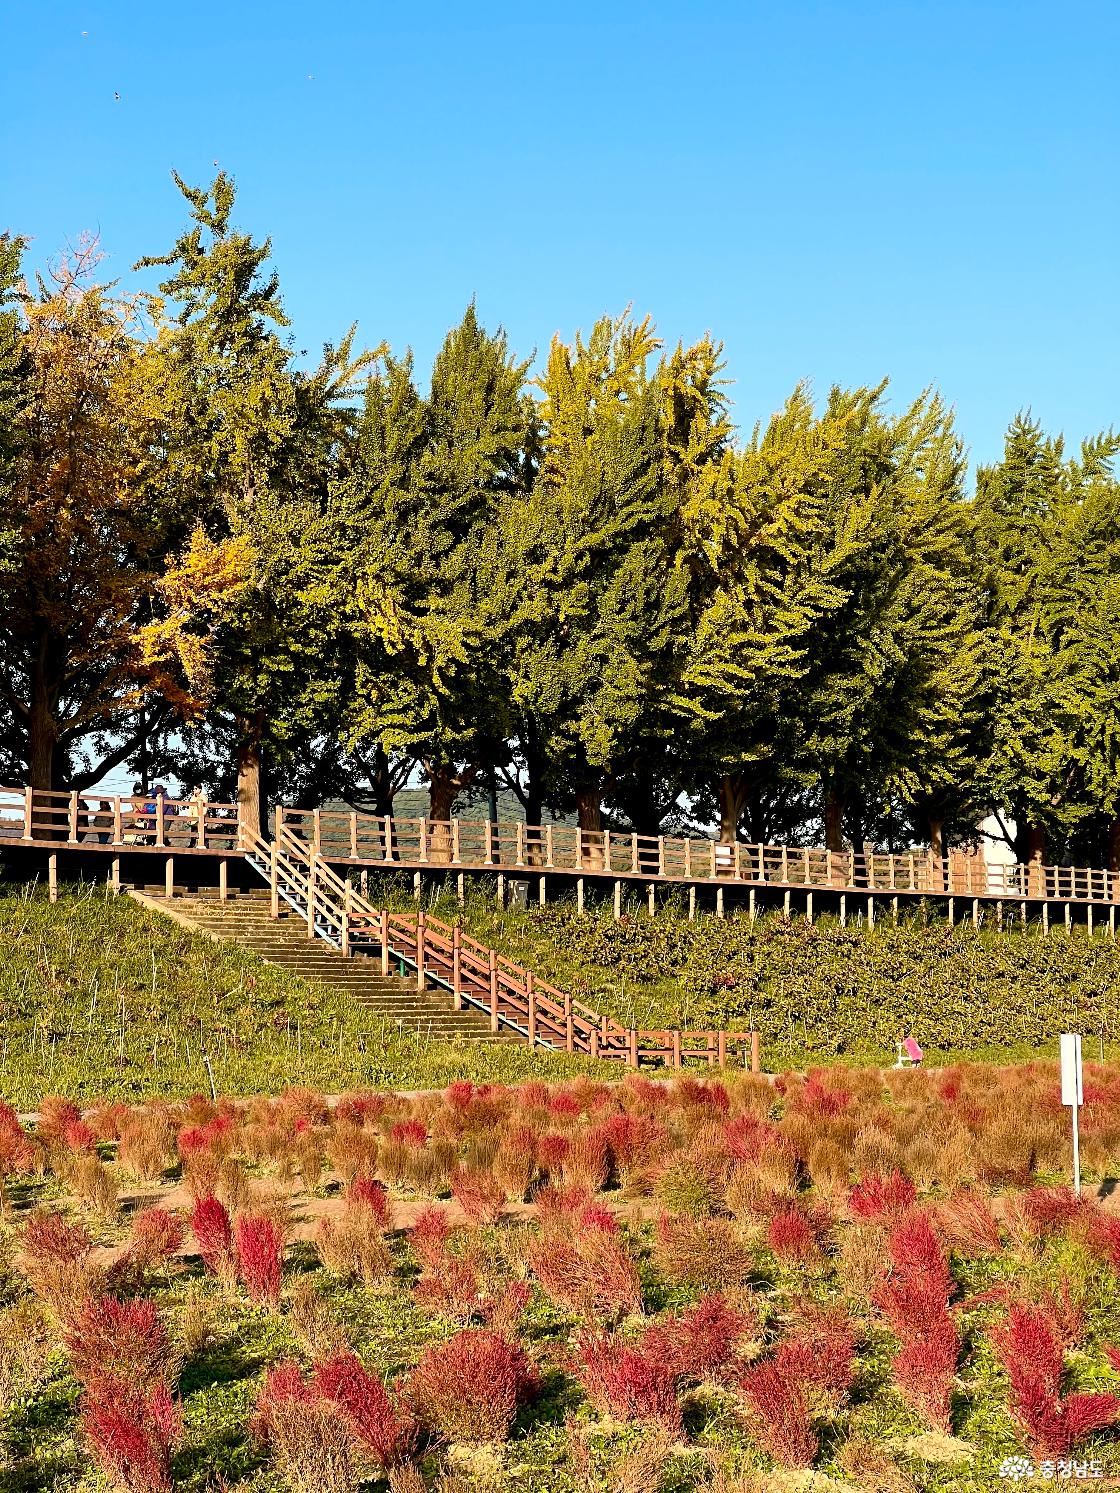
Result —
M418 761L441 823L509 733L497 515L523 482L524 376L473 305L448 333L427 396L411 355L385 355L333 508L355 648L346 744Z

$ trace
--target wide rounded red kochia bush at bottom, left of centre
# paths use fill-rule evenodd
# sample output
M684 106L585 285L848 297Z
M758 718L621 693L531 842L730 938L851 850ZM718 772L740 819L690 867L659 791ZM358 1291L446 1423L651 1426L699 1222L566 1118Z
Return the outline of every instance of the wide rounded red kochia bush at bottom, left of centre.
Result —
M505 1441L536 1384L524 1348L485 1327L433 1344L409 1381L423 1415L451 1441Z

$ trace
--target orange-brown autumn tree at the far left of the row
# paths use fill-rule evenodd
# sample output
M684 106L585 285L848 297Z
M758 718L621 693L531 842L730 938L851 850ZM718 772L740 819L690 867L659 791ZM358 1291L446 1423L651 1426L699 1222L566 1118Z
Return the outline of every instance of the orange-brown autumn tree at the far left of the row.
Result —
M97 258L85 242L34 291L21 285L0 337L0 696L9 755L36 788L81 790L154 720L203 708L208 636L248 558L190 540L161 469L160 308L94 284Z

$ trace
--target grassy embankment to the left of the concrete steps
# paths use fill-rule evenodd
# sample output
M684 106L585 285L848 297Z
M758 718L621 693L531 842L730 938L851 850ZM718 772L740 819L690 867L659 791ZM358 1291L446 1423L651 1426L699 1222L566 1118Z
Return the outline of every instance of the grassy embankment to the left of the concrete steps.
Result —
M0 1094L166 1099L306 1084L439 1088L584 1072L517 1045L426 1041L230 944L194 935L103 887L0 888Z

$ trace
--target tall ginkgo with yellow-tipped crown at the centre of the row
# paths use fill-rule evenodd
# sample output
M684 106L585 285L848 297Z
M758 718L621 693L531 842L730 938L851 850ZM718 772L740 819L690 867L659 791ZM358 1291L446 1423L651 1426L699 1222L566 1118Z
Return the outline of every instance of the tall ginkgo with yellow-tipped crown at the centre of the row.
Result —
M532 491L502 521L511 700L541 797L602 824L603 794L659 736L687 614L678 497L663 478L651 324L600 320L553 340Z

